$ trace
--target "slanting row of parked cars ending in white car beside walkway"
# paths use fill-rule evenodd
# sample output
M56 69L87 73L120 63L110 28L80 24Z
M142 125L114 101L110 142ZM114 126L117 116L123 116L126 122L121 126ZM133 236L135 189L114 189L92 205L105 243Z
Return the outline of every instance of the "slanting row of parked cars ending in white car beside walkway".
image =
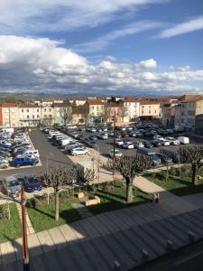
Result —
M62 126L59 129L60 131L52 127L45 127L42 131L47 135L52 145L56 145L64 150L64 154L79 155L89 153L85 145L76 140L78 136L74 132L70 134L69 129Z

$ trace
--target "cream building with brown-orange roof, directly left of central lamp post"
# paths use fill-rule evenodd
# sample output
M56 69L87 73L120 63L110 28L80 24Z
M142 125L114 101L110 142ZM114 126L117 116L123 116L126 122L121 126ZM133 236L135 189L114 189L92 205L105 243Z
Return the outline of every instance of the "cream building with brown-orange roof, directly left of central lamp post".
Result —
M86 123L101 123L104 118L105 103L100 99L88 99L84 105Z

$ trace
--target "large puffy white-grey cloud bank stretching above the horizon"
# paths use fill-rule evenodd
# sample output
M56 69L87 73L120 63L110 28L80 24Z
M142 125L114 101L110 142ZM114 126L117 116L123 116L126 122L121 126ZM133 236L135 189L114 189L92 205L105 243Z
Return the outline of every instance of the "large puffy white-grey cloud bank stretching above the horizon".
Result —
M174 67L169 72L158 72L153 59L117 63L104 58L91 64L61 42L49 39L0 36L0 60L1 92L49 89L54 93L104 95L203 89L203 70L189 70L189 65L187 69Z

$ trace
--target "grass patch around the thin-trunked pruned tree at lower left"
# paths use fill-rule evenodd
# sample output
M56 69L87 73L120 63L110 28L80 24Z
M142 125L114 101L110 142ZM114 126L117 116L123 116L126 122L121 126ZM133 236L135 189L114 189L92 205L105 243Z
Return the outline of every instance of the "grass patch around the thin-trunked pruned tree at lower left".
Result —
M36 209L27 207L26 210L28 211L33 229L35 231L42 231L75 220L80 220L80 216L78 215L77 210L73 209L71 206L72 202L78 202L78 200L60 199L60 219L58 221L55 221L54 219L55 205L53 199L51 199L50 204L47 204L46 201L37 204Z

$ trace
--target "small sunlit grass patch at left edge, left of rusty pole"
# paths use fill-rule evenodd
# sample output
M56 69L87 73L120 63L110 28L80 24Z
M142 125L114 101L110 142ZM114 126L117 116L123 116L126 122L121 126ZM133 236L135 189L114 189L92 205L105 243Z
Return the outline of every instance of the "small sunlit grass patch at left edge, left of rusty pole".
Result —
M20 238L22 233L21 220L14 203L10 203L11 220L0 220L0 243Z

